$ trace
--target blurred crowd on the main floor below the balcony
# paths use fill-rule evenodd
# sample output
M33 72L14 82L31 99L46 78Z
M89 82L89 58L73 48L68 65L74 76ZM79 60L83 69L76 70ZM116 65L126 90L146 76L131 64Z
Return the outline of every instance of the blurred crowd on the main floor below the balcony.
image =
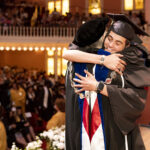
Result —
M0 121L6 130L8 148L13 142L24 148L43 130L64 124L64 112L63 76L55 81L44 71L0 68ZM59 116L61 124L56 120Z

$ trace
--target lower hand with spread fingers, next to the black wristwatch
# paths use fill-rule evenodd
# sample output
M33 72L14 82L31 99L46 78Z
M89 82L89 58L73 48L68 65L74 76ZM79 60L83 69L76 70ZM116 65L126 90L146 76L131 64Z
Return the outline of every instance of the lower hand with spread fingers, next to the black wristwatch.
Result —
M75 84L74 87L81 88L77 90L76 93L80 93L82 91L96 91L97 89L98 81L95 77L87 70L84 70L84 72L87 74L87 77L83 77L76 73L76 76L79 77L79 79L73 79L75 82L79 83Z

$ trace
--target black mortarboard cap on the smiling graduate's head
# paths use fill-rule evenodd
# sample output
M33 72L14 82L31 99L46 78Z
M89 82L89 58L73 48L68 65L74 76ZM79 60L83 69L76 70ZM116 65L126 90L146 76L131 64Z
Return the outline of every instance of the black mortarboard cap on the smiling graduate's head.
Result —
M125 37L130 42L142 43L142 40L137 36L149 36L145 31L140 27L134 24L127 16L124 14L107 14L110 18L113 19L114 23L112 24L110 30Z

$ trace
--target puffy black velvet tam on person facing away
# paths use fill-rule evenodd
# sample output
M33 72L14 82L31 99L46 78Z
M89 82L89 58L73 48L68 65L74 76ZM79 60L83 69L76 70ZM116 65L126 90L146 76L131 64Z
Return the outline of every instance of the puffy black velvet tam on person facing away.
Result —
M73 43L84 47L96 42L104 34L108 22L108 17L102 17L82 24L77 30Z

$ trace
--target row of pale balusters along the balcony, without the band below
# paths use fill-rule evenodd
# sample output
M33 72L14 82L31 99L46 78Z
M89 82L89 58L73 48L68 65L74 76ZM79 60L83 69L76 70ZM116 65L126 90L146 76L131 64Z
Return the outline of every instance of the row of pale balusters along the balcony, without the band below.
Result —
M75 27L0 26L0 36L74 37L76 31Z

